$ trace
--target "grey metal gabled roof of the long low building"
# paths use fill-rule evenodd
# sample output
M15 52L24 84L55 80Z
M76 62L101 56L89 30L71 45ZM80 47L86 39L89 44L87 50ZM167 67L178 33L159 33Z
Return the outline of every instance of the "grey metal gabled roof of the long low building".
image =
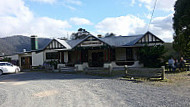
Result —
M151 32L146 32L145 34L139 34L139 35L110 36L110 37L104 37L104 38L98 38L98 37L95 37L95 36L90 34L90 35L88 35L88 36L86 36L84 38L81 38L81 39L75 39L75 40L52 39L51 41L56 40L57 42L62 44L66 48L66 50L75 48L77 45L79 45L80 43L82 43L83 41L88 39L89 37L94 37L97 40L99 40L99 41L101 41L101 42L103 42L103 43L105 43L105 44L107 44L109 46L112 46L112 47L125 47L125 46L127 47L127 46L137 46L138 41L140 41L142 38L144 38L147 34L151 34L155 38L159 39L158 37L156 37ZM164 43L164 41L162 41L161 39L159 39L159 40L160 40L161 43ZM48 45L46 45L46 47Z

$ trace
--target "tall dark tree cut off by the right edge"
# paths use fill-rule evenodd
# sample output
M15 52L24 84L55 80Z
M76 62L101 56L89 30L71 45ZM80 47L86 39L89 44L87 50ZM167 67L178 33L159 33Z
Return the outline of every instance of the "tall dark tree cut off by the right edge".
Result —
M180 56L190 58L190 0L177 0L174 6L173 47Z

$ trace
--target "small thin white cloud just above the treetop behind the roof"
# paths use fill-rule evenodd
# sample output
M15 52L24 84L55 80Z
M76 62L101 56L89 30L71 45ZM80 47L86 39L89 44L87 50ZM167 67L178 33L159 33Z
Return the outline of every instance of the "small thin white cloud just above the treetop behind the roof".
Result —
M92 25L93 23L85 18L73 17L70 18L70 22L74 25Z

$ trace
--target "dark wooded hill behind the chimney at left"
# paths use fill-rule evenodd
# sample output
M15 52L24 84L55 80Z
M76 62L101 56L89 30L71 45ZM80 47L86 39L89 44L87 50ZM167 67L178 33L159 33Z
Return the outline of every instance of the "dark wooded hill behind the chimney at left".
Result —
M43 48L49 43L49 38L38 38L39 49ZM30 37L17 35L11 37L0 38L0 55L14 54L15 52L22 52L23 49L31 50Z

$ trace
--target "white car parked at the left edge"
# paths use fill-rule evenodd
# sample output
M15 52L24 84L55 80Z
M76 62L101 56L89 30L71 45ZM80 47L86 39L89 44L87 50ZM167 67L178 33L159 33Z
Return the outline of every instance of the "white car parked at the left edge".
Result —
M3 73L18 73L20 68L9 62L0 62L0 75Z

